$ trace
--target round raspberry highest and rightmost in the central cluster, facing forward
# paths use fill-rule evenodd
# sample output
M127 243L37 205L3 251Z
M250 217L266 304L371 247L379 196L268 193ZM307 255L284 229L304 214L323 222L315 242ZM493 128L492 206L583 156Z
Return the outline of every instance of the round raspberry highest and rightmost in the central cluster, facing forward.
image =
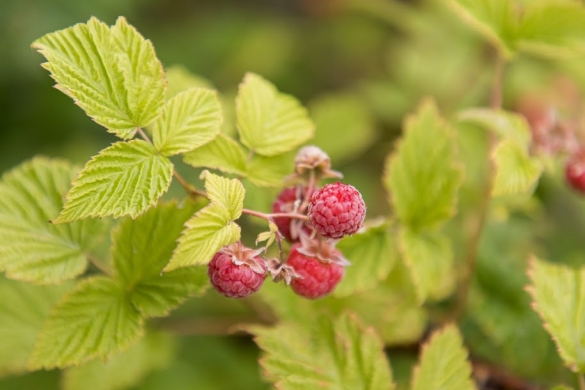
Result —
M309 221L324 237L341 238L359 230L366 217L366 204L353 186L327 184L313 193Z

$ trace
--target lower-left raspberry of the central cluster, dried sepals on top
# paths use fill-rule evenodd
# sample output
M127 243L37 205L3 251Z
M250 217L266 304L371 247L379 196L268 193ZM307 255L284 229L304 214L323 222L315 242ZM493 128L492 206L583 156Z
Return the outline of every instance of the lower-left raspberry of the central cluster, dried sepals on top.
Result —
M258 251L240 243L217 252L207 267L207 275L215 289L229 298L243 298L262 287L266 266Z

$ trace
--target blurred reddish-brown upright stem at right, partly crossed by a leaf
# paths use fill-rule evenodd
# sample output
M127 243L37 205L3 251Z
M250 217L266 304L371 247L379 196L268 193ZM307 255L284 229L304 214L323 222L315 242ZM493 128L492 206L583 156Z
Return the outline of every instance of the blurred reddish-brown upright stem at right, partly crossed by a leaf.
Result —
M505 62L501 53L496 54L494 78L491 90L490 107L492 109L500 109L502 107L502 92L504 84L504 67ZM496 136L494 132L488 132L488 161L487 161L487 180L483 191L483 197L479 204L479 214L477 216L477 223L472 230L469 246L464 258L464 268L459 281L459 289L457 290L457 301L452 313L452 318L459 318L465 311L467 306L467 298L469 296L469 289L471 280L475 273L477 264L479 244L481 235L490 209L491 193L494 185L495 167L491 160L492 151L496 145ZM583 389L585 390L585 389Z

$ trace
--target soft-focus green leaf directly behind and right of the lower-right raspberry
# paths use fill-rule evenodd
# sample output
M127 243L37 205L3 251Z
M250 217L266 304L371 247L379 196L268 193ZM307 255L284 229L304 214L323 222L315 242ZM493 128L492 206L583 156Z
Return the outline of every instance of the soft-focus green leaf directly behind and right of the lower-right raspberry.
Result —
M396 256L392 245L387 223L341 240L337 248L351 262L351 267L347 268L335 295L349 296L375 288L394 266Z

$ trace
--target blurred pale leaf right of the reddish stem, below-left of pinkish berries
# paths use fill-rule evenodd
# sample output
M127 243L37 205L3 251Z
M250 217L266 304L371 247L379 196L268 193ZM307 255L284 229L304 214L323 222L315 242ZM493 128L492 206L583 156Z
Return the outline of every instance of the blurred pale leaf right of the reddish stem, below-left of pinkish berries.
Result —
M512 140L501 141L493 152L496 165L493 196L532 194L543 165Z

